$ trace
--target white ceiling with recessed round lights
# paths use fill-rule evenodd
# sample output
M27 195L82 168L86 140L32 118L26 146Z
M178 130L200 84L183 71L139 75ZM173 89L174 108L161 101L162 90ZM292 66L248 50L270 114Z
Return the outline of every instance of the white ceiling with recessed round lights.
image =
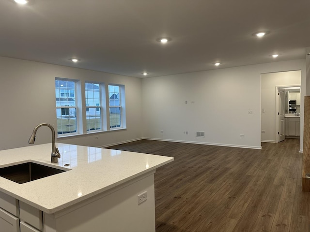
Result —
M309 46L310 0L0 1L0 56L127 76L302 59Z

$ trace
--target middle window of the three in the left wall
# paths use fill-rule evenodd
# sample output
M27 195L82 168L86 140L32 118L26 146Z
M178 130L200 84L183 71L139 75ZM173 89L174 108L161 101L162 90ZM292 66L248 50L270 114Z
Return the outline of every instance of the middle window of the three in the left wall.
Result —
M102 108L100 85L85 83L86 130L102 130Z

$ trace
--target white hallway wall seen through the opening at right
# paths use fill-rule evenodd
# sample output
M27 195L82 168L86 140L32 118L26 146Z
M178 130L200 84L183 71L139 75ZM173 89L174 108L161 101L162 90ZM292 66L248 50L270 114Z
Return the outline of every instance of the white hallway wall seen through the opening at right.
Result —
M262 141L276 142L276 86L301 84L301 71L262 74ZM301 105L304 99L301 98Z

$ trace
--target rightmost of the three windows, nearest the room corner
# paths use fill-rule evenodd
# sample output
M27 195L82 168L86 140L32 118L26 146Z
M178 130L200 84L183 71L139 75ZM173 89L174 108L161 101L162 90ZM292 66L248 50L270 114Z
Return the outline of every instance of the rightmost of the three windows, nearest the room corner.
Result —
M110 128L122 127L121 88L109 85Z

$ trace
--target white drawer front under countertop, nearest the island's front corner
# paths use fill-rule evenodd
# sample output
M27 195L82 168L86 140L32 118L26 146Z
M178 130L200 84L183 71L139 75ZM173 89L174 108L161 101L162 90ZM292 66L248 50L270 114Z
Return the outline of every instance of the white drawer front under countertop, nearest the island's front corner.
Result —
M41 210L38 210L29 204L19 202L19 217L21 221L25 221L31 226L39 230L43 229Z

